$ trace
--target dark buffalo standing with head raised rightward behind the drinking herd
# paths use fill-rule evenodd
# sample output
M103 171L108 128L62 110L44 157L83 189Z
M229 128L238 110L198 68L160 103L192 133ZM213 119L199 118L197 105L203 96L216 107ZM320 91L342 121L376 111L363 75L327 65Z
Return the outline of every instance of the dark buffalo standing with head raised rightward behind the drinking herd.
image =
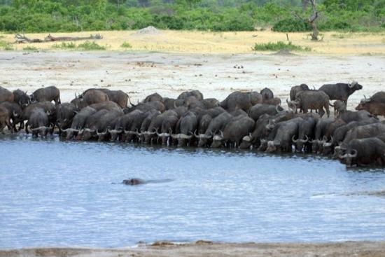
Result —
M337 84L326 84L318 90L321 90L329 96L330 100L341 100L347 106L348 98L356 90L363 89L363 86L358 84L356 81L352 83L337 83Z

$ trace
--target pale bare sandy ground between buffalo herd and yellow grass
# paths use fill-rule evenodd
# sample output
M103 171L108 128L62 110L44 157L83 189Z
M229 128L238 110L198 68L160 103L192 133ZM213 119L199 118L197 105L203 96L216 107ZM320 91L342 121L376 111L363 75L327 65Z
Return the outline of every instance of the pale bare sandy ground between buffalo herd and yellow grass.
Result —
M0 52L0 85L31 93L56 85L62 102L87 88L120 89L132 102L158 92L177 97L183 90L201 90L204 97L224 99L234 90L271 88L286 101L293 85L356 80L363 90L348 102L384 90L385 56L207 55L124 52ZM284 104L286 106L286 103Z

